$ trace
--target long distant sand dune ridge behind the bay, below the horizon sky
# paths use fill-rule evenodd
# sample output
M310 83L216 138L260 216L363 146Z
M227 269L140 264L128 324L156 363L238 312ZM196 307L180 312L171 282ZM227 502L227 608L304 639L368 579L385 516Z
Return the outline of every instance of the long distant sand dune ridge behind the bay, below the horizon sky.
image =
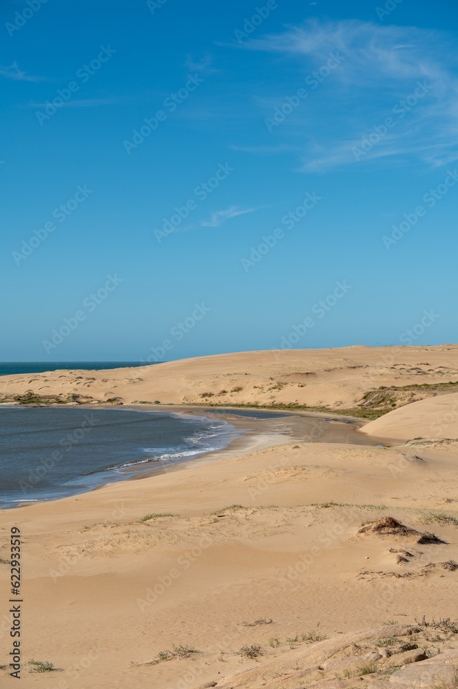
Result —
M458 345L269 350L203 356L140 368L54 371L0 377L0 397L32 390L81 400L163 404L307 404L352 409L380 386L458 380ZM441 389L397 391L394 404ZM383 395L382 395L383 396ZM389 395L388 395L389 397ZM383 402L382 402L383 404Z

